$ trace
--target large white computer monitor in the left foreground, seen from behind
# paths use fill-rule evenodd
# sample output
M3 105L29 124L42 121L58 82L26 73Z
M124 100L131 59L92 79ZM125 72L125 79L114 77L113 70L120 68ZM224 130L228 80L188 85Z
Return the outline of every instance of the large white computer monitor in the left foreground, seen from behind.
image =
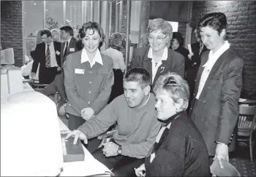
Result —
M1 101L1 176L56 176L63 165L55 103L34 91Z

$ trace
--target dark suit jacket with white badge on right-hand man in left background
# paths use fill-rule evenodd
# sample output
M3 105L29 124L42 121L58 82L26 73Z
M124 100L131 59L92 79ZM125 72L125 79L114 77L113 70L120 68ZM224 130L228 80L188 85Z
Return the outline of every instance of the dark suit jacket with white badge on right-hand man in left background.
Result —
M64 63L64 47L65 47L66 42L61 43L61 63ZM79 50L82 50L83 47L81 46L79 39L75 38L72 36L69 42L69 47L67 48L67 55L73 53L73 52L78 52Z

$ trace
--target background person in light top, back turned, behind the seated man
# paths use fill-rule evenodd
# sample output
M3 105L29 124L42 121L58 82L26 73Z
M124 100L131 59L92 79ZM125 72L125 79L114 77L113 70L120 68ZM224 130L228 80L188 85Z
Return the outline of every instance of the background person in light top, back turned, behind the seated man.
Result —
M113 33L110 37L110 48L103 51L102 54L109 56L113 60L114 84L110 94L110 100L113 101L119 95L124 93L123 72L125 71L124 55L120 52L123 37L119 33Z

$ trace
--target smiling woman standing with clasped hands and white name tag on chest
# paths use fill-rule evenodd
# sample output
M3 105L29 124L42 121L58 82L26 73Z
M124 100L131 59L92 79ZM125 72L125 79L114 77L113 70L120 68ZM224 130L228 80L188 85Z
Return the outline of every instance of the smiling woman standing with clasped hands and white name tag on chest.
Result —
M67 55L64 63L69 130L78 129L106 106L114 81L113 60L98 50L105 39L99 23L84 23L80 39L83 50Z

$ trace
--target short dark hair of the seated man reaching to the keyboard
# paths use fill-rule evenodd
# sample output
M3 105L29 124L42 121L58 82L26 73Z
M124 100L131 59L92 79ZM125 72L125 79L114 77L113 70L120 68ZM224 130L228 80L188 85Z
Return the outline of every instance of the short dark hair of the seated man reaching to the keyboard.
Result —
M151 85L151 76L144 68L131 68L124 74L125 82L139 82L141 88Z

